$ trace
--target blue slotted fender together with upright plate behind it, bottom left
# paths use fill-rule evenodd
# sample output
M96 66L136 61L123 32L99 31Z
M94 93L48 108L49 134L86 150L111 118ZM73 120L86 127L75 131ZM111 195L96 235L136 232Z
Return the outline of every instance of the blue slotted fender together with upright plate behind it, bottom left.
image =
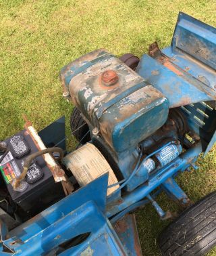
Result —
M42 255L58 251L59 255L94 253L126 255L119 238L105 215L108 175L63 198L36 217L9 232L3 244L16 255ZM84 243L63 251L61 244L88 233Z

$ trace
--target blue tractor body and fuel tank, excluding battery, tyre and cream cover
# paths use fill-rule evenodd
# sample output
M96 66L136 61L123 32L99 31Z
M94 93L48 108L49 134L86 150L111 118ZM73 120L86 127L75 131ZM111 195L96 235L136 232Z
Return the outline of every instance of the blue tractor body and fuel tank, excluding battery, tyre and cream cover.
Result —
M140 255L128 213L150 202L161 219L173 217L156 202L162 191L190 205L175 177L196 169L199 154L215 144L215 69L215 28L183 13L171 46L153 43L135 71L105 49L65 66L63 95L80 110L90 143L112 158L117 182L101 174L16 228L1 221L0 255ZM61 118L38 135L65 150L64 129ZM63 159L72 172L73 154Z

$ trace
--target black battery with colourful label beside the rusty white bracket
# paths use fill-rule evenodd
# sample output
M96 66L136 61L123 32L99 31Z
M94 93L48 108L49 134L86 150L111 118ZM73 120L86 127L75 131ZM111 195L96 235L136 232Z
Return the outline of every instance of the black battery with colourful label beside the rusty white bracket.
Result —
M49 198L51 198L52 191L53 194L57 194L56 191L63 194L61 182L55 183L53 174L43 156L38 156L32 161L26 178L21 183L22 186L15 191L11 186L12 182L22 173L26 157L37 152L38 148L26 129L4 142L7 144L8 151L3 158L0 156L0 171L14 202L25 211L30 211L35 207L38 209L43 204L46 194L49 194Z

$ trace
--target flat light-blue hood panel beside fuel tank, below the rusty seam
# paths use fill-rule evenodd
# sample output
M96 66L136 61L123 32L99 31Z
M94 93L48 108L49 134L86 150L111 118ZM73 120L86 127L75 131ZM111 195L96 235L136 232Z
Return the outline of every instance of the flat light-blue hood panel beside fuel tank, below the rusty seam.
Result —
M170 61L169 68L167 66L144 55L136 71L169 99L170 108L216 100L216 92L213 89L204 87L198 79L190 77L177 67L173 68Z

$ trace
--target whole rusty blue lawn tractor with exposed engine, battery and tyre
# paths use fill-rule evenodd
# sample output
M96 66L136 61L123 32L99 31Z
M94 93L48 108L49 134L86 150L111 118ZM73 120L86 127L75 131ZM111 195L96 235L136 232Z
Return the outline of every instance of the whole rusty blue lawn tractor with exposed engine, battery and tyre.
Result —
M0 146L0 255L141 255L134 211L172 219L162 255L205 255L216 244L216 192L196 204L176 182L216 140L216 29L184 13L171 45L142 58L97 49L63 67L65 119ZM209 177L211 178L211 177ZM184 208L164 211L157 196Z

